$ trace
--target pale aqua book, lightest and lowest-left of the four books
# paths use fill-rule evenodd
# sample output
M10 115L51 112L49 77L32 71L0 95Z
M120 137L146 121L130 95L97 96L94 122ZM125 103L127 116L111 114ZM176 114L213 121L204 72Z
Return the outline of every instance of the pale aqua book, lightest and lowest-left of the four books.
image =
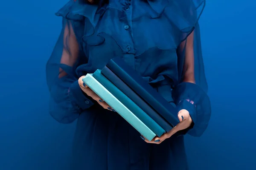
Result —
M140 134L151 141L156 134L149 129L137 116L134 115L125 105L116 99L102 84L100 84L93 74L87 74L82 81L102 98L111 108L113 108L120 116L130 123Z

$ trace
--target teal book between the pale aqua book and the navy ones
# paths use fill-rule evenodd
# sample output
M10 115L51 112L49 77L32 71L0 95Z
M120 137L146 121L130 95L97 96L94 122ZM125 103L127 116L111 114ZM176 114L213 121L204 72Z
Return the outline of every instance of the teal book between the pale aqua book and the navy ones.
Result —
M128 96L126 96L119 88L101 74L98 69L93 73L93 77L98 80L113 96L124 104L135 116L137 116L149 129L157 136L162 136L166 131L157 124L145 111L136 105Z

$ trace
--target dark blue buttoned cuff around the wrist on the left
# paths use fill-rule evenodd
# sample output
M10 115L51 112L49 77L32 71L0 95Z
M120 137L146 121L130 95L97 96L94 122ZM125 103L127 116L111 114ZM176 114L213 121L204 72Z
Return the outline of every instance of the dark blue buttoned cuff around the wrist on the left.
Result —
M83 93L79 87L78 81L73 82L69 89L70 101L72 104L80 110L86 110L90 108L94 103L89 99L89 96Z

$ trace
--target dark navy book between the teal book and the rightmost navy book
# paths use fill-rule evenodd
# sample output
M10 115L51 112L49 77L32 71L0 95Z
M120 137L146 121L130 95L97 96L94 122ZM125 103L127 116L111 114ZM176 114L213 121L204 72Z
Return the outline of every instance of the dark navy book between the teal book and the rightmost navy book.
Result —
M108 67L104 67L101 73L109 79L117 88L120 89L128 98L138 105L145 113L148 114L158 125L163 127L166 132L172 129L170 125L160 114L158 114L147 102L145 102L137 93L135 93L128 85L126 85L116 74Z

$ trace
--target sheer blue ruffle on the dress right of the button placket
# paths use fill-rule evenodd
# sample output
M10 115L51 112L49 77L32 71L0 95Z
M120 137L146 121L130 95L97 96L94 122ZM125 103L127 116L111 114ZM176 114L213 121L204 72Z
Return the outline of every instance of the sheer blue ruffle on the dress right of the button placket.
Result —
M150 48L177 49L194 31L204 10L205 0L147 0L145 12L134 11L136 55ZM140 4L140 3L137 3ZM139 28L145 28L139 30ZM150 28L150 29L149 29ZM164 32L164 34L156 34ZM146 37L146 38L145 38Z

